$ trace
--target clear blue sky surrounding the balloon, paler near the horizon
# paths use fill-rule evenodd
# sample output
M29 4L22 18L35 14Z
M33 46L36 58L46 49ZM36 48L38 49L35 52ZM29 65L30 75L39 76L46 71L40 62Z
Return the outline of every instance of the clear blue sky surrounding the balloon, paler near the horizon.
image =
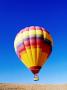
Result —
M40 80L14 51L16 34L26 26L43 26L54 40L52 54L39 73ZM67 83L67 2L64 0L0 0L0 82Z

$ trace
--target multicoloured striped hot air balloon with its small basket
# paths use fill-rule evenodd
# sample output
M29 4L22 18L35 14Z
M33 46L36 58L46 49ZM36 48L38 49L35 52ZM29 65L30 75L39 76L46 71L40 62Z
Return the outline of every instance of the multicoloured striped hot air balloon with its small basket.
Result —
M43 27L30 26L22 29L14 40L15 52L24 65L39 80L38 73L52 51L53 40Z

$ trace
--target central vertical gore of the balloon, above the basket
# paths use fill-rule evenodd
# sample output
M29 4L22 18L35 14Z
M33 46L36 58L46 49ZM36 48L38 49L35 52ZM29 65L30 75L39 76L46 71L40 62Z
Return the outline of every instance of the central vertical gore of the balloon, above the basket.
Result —
M34 28L35 29L35 28ZM32 35L31 35L32 33ZM30 47L31 47L31 53L32 53L32 60L33 60L33 64L34 66L36 65L36 30L29 30L29 37L30 37ZM35 38L34 38L35 37Z

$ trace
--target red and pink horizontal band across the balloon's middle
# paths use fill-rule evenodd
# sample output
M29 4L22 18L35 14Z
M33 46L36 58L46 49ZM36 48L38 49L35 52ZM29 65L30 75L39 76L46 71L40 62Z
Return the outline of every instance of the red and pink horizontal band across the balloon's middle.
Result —
M35 40L35 38L33 38L33 39L29 40L29 38L28 38L27 40L24 41L24 43L21 43L17 47L17 49L19 52L21 52L21 51L26 50L25 47L29 47L29 48L30 47L34 47L34 48L39 47L42 49L42 51L45 51L45 48L48 48L48 50L51 50L51 42L47 39L42 40L42 39L38 38Z

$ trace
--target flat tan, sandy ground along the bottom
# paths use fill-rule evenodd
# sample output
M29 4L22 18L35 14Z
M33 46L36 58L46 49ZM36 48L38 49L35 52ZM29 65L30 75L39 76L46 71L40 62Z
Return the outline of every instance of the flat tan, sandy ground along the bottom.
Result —
M67 90L67 84L4 84L0 83L0 90Z

